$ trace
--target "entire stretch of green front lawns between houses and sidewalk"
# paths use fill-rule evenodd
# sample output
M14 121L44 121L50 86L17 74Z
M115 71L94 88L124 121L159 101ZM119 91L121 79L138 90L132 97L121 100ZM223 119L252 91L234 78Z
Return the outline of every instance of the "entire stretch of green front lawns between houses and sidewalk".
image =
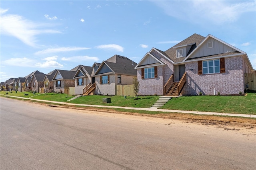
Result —
M67 102L70 96L67 94L33 94L25 92L28 96L24 96L24 92L8 92L8 96L21 96L25 98L35 98L56 102ZM6 92L0 92L1 96L6 96ZM102 98L111 98L111 103L102 103ZM72 100L68 103L89 104L103 106L125 106L125 107L151 107L159 98L159 96L138 96L139 100L134 100L136 96L100 96L90 95L83 96ZM256 114L256 93L250 92L246 96L182 96L172 98L160 109L173 110L191 110L191 111L208 111L220 113L240 113L240 114Z

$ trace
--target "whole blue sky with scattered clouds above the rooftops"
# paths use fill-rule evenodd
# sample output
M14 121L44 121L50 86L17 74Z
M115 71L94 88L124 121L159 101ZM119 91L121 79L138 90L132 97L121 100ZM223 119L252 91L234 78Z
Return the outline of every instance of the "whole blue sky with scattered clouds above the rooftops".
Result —
M256 69L256 1L1 0L0 12L1 82L116 54L138 63L194 33L245 51Z

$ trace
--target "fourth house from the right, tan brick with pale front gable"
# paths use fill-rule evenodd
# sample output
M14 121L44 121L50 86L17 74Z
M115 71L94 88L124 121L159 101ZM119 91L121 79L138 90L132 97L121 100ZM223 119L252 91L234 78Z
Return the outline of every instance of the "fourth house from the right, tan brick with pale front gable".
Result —
M69 70L56 70L54 77L52 78L54 84L54 92L64 93L65 89L75 86L75 80L73 79L76 71Z

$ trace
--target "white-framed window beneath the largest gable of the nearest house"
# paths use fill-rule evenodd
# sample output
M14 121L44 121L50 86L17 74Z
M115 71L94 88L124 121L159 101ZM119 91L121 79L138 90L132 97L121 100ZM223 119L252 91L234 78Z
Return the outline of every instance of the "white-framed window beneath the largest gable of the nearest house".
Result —
M220 73L220 59L203 61L203 74Z

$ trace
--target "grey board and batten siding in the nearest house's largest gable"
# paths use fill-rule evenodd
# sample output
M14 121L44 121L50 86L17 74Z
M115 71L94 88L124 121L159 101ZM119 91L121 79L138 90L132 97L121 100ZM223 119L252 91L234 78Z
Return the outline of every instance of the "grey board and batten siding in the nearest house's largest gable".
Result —
M208 48L209 42L213 42L212 48ZM225 45L224 43L221 43L220 41L210 37L209 39L207 39L206 42L202 44L202 47L200 49L198 49L192 56L190 56L190 58L216 55L235 51L235 49L229 47L228 45Z

